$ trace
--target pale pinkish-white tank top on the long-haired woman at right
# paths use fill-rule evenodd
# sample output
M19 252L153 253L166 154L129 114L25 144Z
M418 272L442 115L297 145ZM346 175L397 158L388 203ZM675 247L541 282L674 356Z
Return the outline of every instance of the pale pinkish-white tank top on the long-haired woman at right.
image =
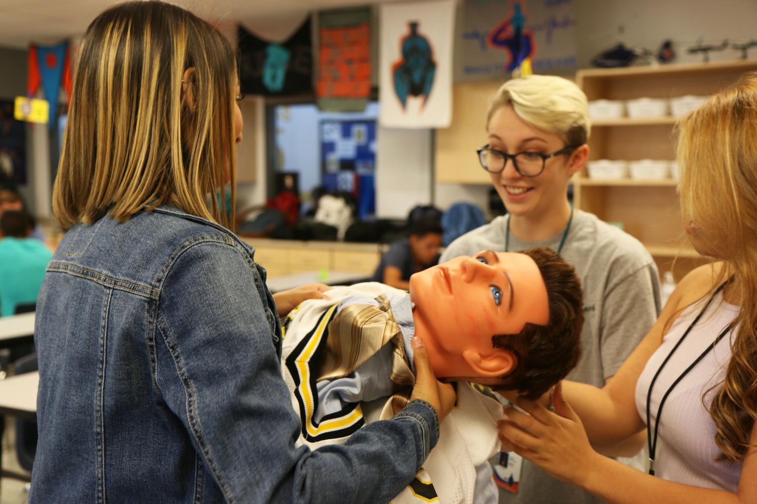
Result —
M646 394L653 376L703 306L702 303L696 303L687 308L675 320L660 348L646 363L636 385L636 408L644 422ZM724 301L722 292L715 296L706 313L696 326L693 326L657 377L650 398L650 429L654 429L660 400L668 388L696 357L712 345L718 334L734 320L738 312L739 307ZM732 464L728 461L715 461L721 450L715 444L715 422L706 409L712 403L715 391L706 393L712 385L723 381L725 368L731 360L730 343L735 337L736 330L732 330L729 336L721 339L718 345L715 345L715 348L678 382L665 400L658 429L656 476L696 487L737 492L741 462Z

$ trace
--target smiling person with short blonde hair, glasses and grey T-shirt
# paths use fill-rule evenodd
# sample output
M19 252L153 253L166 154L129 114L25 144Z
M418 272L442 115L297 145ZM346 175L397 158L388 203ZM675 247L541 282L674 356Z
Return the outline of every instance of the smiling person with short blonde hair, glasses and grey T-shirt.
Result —
M459 237L440 261L482 249L547 247L562 255L575 267L584 292L581 359L568 379L603 387L653 326L659 314L659 275L638 240L569 203L570 179L589 156L586 95L562 77L512 79L492 97L485 125L488 143L478 149L478 162L509 215ZM602 450L609 456L630 456L642 442L639 436ZM503 504L551 504L557 495L563 504L601 502L528 460L522 461L518 474L503 472L504 465L518 466L512 462L516 457L503 453L500 458L509 464L493 461L500 484L511 476L518 482L517 493L500 490ZM482 476L491 472L488 465L479 469Z

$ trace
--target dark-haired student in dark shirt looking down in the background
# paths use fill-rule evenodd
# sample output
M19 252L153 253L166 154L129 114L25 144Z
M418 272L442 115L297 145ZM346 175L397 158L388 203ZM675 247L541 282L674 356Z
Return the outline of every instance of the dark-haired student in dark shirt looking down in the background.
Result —
M410 275L439 262L442 228L437 218L422 218L410 227L410 237L392 243L371 280L410 289Z

